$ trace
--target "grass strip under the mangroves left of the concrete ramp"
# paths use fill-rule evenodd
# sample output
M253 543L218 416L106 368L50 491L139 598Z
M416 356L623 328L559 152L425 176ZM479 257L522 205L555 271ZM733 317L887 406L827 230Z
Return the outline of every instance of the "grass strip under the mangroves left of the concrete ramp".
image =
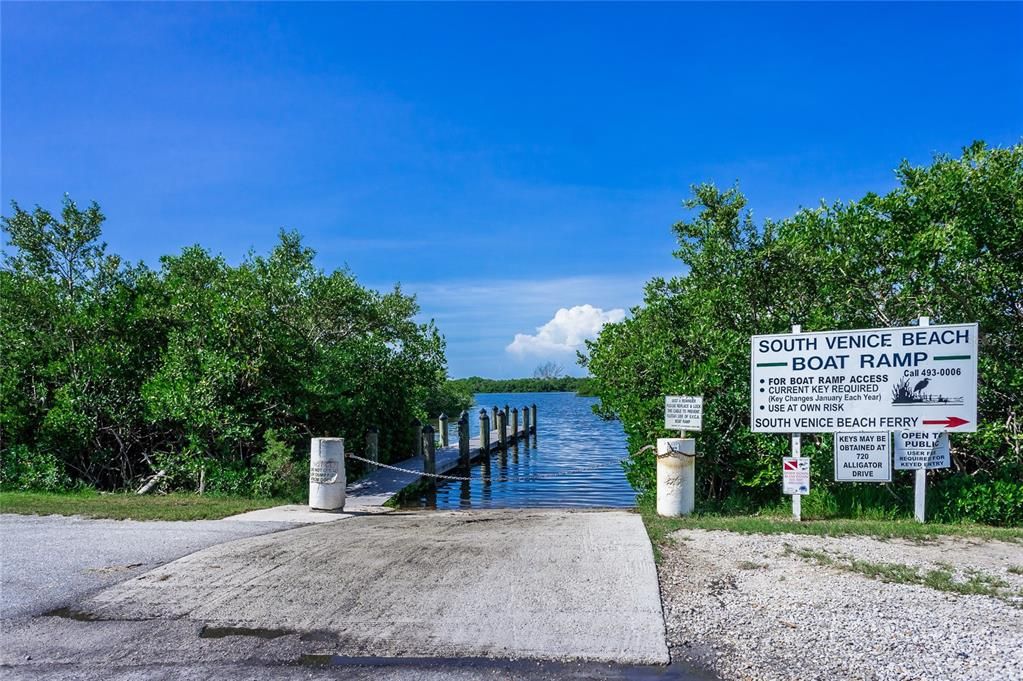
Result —
M115 520L207 520L278 506L279 499L211 497L194 494L138 496L94 491L50 494L0 492L0 512L26 515L82 515Z

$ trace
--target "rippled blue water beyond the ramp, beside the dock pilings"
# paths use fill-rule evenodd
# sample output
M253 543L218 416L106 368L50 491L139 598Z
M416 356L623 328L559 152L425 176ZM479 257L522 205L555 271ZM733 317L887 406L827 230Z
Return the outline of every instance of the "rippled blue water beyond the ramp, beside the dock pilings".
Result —
M520 442L506 454L494 452L488 461L475 462L471 481L445 482L434 495L425 494L419 506L437 508L501 508L516 506L632 506L635 492L620 465L627 454L625 434L618 421L593 415L594 398L574 393L483 393L470 411L472 437L480 432L480 409L507 404L536 404L539 428L529 447ZM452 426L453 426L452 419ZM520 424L522 417L520 415ZM451 442L458 440L452 429ZM451 471L450 474L460 474ZM412 500L406 505L416 505Z

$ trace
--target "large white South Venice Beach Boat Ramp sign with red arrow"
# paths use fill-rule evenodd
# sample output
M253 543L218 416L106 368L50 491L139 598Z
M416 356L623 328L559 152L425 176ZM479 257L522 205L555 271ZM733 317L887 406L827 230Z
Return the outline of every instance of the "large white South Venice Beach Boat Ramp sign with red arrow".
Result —
M977 325L755 335L755 433L977 429Z

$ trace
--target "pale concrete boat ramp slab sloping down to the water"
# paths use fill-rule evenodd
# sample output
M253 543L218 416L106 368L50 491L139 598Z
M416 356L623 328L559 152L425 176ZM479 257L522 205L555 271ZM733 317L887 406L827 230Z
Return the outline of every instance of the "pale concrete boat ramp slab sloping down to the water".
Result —
M668 663L650 542L623 511L315 525L207 548L76 609L320 637L332 654Z

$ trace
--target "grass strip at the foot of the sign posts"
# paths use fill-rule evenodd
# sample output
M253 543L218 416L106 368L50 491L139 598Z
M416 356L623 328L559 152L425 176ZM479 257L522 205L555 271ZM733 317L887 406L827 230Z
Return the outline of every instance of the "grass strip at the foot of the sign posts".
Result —
M921 524L914 519L884 518L830 518L796 523L784 515L717 515L697 513L686 517L661 517L653 503L640 503L642 515L654 545L655 557L660 559L660 547L676 530L724 530L747 535L814 535L818 537L862 536L877 539L908 539L933 541L940 537L971 537L998 539L1008 542L1023 541L1023 528L993 528L986 525Z

